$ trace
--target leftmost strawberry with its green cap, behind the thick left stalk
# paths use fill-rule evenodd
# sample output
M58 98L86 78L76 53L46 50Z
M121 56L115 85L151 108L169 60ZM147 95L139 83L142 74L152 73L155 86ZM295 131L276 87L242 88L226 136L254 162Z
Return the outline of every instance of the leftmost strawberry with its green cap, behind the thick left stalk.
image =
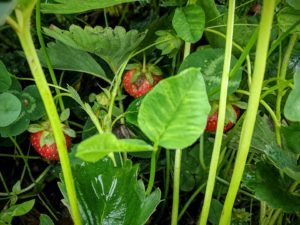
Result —
M65 124L61 124L61 126L64 132L66 146L69 150L71 138L75 137L75 131ZM57 146L49 121L31 124L29 125L28 131L31 133L31 145L39 155L47 160L59 160Z

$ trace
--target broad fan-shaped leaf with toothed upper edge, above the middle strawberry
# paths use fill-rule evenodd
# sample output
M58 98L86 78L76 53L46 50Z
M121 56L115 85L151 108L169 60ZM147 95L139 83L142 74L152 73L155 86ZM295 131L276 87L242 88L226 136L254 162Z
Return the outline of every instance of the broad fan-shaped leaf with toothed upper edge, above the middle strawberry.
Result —
M82 29L79 26L71 25L70 31L51 26L50 29L44 28L44 32L73 48L96 54L105 60L114 72L125 62L146 35L145 32L139 33L137 30L126 32L123 27L119 26L114 29L86 26Z

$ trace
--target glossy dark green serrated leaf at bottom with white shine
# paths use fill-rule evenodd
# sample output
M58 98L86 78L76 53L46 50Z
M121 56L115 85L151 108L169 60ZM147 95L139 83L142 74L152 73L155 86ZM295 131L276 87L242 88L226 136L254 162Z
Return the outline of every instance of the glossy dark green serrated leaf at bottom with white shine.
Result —
M118 168L106 158L76 164L72 171L82 224L143 225L160 202L159 189L146 196L131 161ZM68 204L64 182L59 187Z

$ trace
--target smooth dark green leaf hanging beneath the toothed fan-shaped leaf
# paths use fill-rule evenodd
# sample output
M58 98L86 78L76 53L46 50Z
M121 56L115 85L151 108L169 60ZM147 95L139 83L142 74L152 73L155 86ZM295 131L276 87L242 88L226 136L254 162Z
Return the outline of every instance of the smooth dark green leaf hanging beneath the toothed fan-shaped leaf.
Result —
M51 42L48 44L47 52L54 69L83 72L109 82L109 78L102 67L85 51L72 48L61 42ZM42 65L47 67L42 50L38 50L38 55Z

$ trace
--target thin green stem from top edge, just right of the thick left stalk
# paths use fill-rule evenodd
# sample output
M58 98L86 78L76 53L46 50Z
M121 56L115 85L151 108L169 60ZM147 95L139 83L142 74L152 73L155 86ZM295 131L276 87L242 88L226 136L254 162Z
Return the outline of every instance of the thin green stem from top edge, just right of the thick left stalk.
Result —
M55 86L58 86L58 83L57 83L57 80L56 80L56 77L55 77L55 73L54 73L54 70L52 68L51 61L50 61L50 58L49 58L49 55L48 55L48 52L47 52L47 49L46 49L46 45L45 45L45 42L44 42L44 38L43 38L43 35L42 35L41 10L40 9L41 9L41 7L40 7L40 0L37 0L37 2L36 2L36 9L35 9L35 12L36 12L35 13L36 33L37 33L37 36L38 36L38 39L39 39L39 42L40 42L40 45L41 45L44 57L45 57L45 61L46 61L47 67L48 67L48 71L49 71L52 83ZM58 102L59 102L60 110L64 111L65 107L64 107L64 102L63 102L63 100L62 100L62 98L60 96L60 89L58 89L58 88L55 87L55 92L56 92L56 95L59 96Z

